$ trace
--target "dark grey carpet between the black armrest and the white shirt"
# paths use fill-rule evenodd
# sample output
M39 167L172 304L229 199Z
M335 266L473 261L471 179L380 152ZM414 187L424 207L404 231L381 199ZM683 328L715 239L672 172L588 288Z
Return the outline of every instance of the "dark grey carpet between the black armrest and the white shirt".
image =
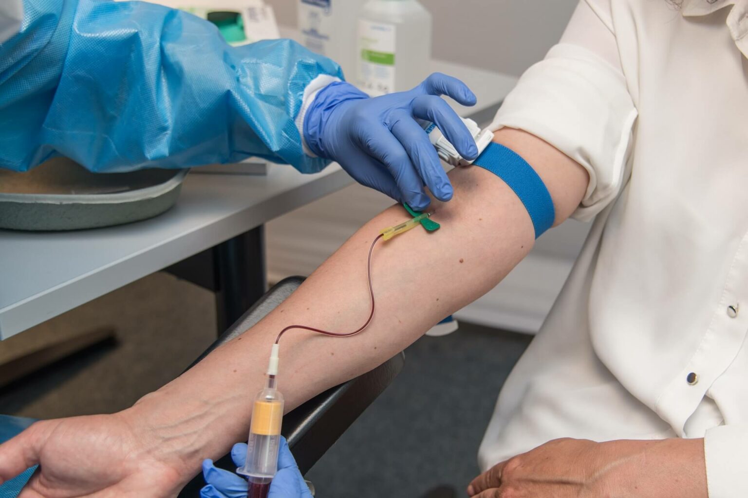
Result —
M414 498L450 485L465 496L499 389L528 343L469 323L418 340L393 385L307 473L317 495Z

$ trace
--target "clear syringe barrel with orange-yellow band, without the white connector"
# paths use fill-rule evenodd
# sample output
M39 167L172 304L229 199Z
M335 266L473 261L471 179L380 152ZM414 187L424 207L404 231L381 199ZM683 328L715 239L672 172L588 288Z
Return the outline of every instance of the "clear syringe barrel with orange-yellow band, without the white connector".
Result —
M266 388L254 400L252 423L247 441L247 461L237 473L251 482L268 482L278 470L278 450L281 446L283 396L278 390Z

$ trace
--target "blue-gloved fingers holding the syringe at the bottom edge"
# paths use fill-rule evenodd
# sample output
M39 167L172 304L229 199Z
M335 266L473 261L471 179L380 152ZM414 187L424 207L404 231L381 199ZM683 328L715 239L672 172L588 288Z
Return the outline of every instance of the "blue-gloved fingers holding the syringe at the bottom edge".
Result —
M247 444L237 443L231 449L236 467L243 467L247 458ZM247 481L228 470L219 469L212 460L203 461L203 476L208 483L200 490L201 498L245 498ZM281 438L278 452L278 473L270 484L268 498L312 498L307 483L298 471L286 438Z

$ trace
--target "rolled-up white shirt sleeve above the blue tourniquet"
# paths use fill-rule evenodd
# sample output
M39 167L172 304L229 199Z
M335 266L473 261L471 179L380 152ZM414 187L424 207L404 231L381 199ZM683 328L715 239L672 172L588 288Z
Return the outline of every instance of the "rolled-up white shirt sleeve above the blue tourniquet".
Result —
M582 0L560 43L522 75L491 129L527 131L581 164L589 185L572 216L591 220L622 188L636 118L610 0Z

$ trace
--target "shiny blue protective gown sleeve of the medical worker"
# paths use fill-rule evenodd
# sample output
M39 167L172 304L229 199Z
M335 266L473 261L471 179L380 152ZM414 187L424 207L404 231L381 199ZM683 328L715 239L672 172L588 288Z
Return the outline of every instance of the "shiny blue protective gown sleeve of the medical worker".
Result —
M1 1L1 0L0 0ZM290 40L224 43L141 1L25 0L0 44L0 167L64 155L96 172L250 156L317 172L295 125L304 88L340 66Z

